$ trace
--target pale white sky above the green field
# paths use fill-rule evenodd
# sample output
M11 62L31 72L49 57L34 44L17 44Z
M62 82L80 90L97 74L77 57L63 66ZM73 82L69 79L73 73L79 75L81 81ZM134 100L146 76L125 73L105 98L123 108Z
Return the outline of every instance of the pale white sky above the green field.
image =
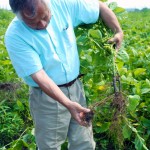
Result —
M0 0L0 8L9 8L9 0ZM117 2L118 6L123 8L150 8L150 0L108 0L109 2Z

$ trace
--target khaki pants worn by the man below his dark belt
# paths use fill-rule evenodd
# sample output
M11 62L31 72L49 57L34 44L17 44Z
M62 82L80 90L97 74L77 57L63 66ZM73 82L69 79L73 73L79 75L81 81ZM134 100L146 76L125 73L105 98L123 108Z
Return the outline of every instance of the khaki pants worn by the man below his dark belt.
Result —
M86 107L80 80L70 87L61 87L72 101ZM60 103L47 96L40 88L30 88L30 111L35 125L39 150L61 150L68 138L69 150L94 150L92 127L82 127Z

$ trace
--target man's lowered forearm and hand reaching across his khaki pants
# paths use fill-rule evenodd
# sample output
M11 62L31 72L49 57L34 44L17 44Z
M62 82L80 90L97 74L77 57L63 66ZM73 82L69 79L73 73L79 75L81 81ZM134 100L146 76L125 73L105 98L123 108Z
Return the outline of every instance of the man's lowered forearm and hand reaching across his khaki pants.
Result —
M60 88L48 77L42 69L31 75L33 80L39 85L43 92L65 106L71 113L72 117L82 126L87 126L83 121L83 114L89 112L89 109L83 108L76 102L68 99Z

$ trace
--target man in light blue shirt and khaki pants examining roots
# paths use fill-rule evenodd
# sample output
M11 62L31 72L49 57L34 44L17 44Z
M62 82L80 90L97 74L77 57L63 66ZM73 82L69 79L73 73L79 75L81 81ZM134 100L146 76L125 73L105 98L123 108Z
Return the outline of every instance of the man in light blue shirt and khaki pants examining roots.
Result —
M103 19L119 49L123 32L114 13L98 0L9 0L16 17L5 44L19 77L30 86L30 111L40 150L94 150L86 127L86 99L79 76L74 27Z

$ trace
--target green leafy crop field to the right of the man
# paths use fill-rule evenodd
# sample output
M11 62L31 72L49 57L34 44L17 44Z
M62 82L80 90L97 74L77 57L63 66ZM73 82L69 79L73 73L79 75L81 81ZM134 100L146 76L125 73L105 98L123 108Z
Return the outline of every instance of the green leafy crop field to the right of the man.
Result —
M111 7L115 10L116 4ZM110 105L113 99L112 46L107 44L112 33L102 22L81 26L76 31L86 97L90 107L97 106L93 121L97 149L150 148L149 15L148 10L130 12L120 19L125 40L115 63L127 108L122 119L113 123L116 126L113 133L111 119L114 111ZM110 147L109 143L115 145Z

